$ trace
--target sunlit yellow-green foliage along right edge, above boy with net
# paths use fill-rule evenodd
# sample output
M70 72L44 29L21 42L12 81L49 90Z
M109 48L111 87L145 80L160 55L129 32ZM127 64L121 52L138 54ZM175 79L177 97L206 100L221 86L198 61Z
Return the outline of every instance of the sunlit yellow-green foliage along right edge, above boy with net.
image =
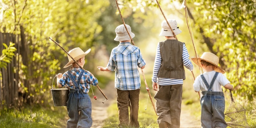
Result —
M196 25L203 27L202 34L212 40L213 50L224 61L222 68L235 87L235 96L252 101L256 92L255 1L195 2Z

